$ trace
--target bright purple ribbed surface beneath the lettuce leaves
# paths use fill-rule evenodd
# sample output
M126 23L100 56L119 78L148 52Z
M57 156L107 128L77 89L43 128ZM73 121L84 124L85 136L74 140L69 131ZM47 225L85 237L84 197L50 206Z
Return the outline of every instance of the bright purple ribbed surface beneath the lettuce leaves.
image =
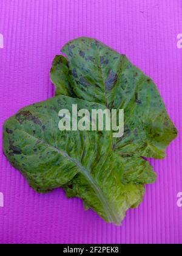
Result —
M0 243L182 243L181 0L1 0L0 122L19 108L53 96L49 69L68 40L95 37L152 77L180 134L165 160L151 160L157 182L122 227L106 224L61 190L40 195L2 154Z

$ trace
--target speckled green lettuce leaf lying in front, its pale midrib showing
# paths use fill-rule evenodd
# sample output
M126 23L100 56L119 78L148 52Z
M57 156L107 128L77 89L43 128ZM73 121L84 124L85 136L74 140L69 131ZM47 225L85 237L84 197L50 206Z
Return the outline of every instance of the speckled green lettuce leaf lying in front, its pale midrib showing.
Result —
M35 191L62 187L67 196L80 197L105 221L119 225L127 209L142 201L148 173L124 173L123 159L112 149L111 131L61 132L59 110L72 113L72 104L78 110L104 109L67 96L22 108L3 126L4 154Z

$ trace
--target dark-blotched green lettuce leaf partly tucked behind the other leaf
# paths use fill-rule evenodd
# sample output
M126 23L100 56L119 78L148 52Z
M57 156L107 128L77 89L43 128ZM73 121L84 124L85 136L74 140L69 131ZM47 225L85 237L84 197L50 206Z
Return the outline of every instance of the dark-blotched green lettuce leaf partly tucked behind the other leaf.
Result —
M56 56L50 72L56 94L66 90L109 109L124 109L124 136L113 140L115 152L123 157L164 158L177 129L152 80L126 55L92 38L70 41L62 52L67 59Z

